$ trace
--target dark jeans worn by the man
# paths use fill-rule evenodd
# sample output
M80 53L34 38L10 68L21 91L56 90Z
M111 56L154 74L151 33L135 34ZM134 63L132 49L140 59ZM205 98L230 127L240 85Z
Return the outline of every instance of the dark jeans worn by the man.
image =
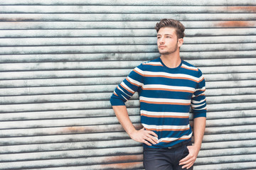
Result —
M174 148L148 148L144 147L143 165L146 170L180 170L179 161L188 155L187 146L191 145L188 142L184 145ZM185 169L183 169L185 170ZM189 169L193 170L193 166Z

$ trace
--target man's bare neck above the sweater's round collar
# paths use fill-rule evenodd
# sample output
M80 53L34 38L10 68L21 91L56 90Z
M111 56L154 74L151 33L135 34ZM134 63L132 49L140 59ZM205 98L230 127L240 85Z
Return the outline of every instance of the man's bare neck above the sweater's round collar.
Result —
M176 68L181 64L181 57L179 55L161 55L161 60L166 67Z

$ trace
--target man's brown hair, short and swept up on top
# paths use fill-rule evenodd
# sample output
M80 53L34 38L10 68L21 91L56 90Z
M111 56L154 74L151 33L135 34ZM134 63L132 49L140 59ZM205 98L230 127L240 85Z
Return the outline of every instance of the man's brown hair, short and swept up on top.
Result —
M176 21L174 19L161 19L161 21L159 23L156 23L155 29L156 29L156 33L159 32L160 28L175 28L176 29L176 35L179 38L183 38L185 37L185 27L183 26L183 24L180 21Z

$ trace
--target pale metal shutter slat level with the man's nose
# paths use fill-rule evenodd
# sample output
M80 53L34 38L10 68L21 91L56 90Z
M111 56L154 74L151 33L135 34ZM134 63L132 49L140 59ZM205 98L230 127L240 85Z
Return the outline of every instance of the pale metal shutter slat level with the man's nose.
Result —
M1 46L44 46L44 45L150 45L156 44L155 37L146 38L2 38ZM186 44L206 44L206 43L248 43L256 42L256 36L240 35L240 36L215 36L215 37L200 37L200 38L184 38Z

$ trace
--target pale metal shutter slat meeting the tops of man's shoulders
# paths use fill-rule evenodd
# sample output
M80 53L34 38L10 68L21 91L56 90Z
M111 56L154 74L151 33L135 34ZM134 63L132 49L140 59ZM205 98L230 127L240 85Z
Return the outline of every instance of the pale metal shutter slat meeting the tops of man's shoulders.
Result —
M240 65L247 64L251 66L252 72L256 69L254 65L256 64L256 60L252 60L252 58L241 58L241 59L215 59L215 60L189 60L191 63L195 64L197 67L201 67L206 70L210 70L208 66L211 68L214 67L240 67ZM99 62L41 62L41 63L0 63L0 71L28 71L28 70L63 70L63 69L132 69L136 67L142 61L137 62L126 62L126 61L110 61L99 64ZM240 68L242 69L242 67ZM246 69L246 68L245 68ZM206 71L207 72L207 71ZM212 71L211 71L212 72ZM233 71L234 72L234 71Z

